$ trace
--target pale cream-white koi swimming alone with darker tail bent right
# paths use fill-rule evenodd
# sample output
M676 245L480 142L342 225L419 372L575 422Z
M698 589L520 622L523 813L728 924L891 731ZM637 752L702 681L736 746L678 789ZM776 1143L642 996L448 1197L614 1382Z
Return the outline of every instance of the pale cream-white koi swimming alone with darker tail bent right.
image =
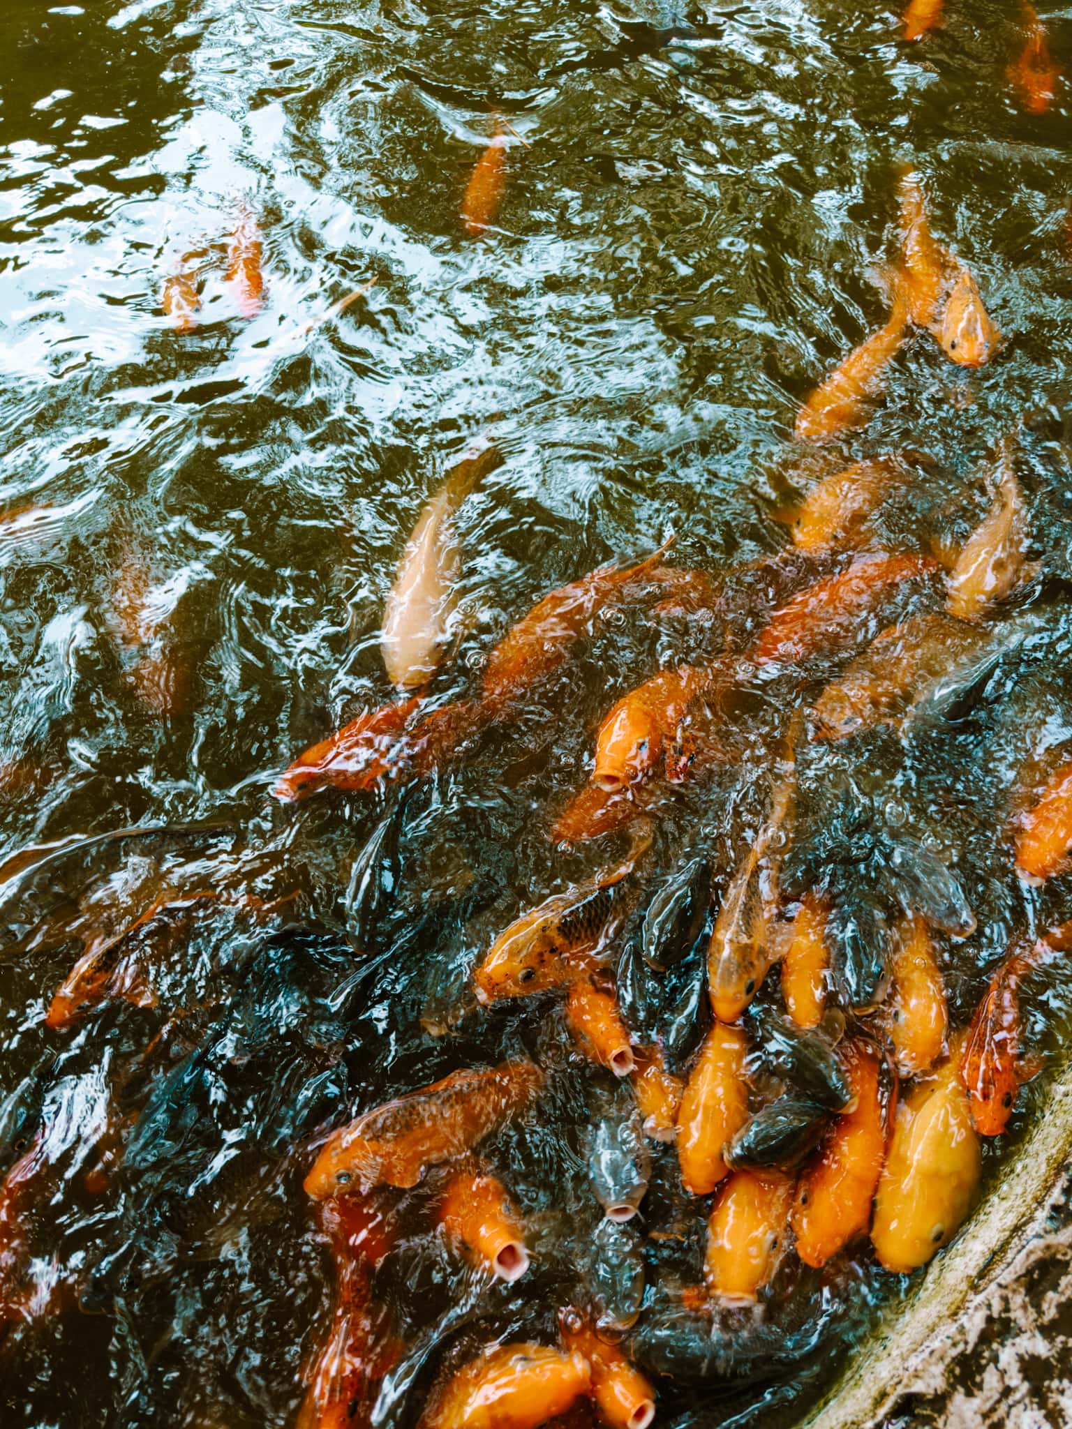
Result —
M473 487L502 464L493 446L457 462L406 543L380 636L387 676L402 690L425 684L439 666L457 583L455 517Z

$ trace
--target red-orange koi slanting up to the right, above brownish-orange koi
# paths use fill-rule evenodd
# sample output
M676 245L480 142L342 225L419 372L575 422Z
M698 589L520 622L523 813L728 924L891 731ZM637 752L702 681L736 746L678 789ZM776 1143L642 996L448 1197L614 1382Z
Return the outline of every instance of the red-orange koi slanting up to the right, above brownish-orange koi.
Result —
M929 556L862 556L839 576L825 576L776 610L756 640L756 664L808 660L859 639L860 627L905 582L939 570Z

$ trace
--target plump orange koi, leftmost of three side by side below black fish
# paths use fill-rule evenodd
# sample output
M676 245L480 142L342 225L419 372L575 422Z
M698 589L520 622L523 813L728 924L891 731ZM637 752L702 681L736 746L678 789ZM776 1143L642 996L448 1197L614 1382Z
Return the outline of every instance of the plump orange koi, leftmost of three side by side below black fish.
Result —
M792 1203L792 1177L732 1172L708 1222L703 1279L710 1295L729 1303L756 1300L789 1248Z

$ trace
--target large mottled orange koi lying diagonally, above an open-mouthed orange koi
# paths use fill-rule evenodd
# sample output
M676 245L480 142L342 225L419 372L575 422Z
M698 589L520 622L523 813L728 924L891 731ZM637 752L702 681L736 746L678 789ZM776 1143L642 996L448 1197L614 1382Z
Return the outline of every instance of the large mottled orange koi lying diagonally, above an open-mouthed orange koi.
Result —
M304 1180L316 1200L346 1186L409 1189L427 1166L472 1150L543 1086L530 1062L452 1072L442 1082L373 1107L340 1127Z

